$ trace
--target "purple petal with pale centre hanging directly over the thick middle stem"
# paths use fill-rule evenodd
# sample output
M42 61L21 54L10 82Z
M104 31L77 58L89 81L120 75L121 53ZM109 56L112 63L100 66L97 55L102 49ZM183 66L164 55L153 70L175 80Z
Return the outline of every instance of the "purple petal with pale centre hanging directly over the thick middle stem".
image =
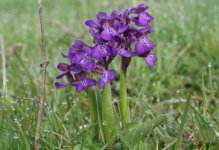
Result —
M98 84L100 88L103 90L107 83L111 82L116 76L116 72L112 70L105 70L100 74L100 79L98 80Z

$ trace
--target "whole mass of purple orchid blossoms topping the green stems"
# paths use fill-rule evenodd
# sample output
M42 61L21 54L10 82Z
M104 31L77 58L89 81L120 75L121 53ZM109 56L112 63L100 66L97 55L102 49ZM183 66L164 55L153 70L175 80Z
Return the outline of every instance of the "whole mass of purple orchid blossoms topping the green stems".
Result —
M87 20L85 25L89 27L94 46L75 40L68 54L62 54L70 64L57 66L62 71L57 79L66 77L68 83L56 82L56 87L74 86L76 92L81 92L98 83L103 90L116 76L113 69L108 69L116 56L122 58L124 71L132 57L143 57L149 67L154 67L157 61L152 53L155 45L149 39L152 33L150 23L154 18L147 10L147 5L140 4L124 12L114 10L110 15L99 12L96 19ZM99 75L97 81L92 79L95 74Z

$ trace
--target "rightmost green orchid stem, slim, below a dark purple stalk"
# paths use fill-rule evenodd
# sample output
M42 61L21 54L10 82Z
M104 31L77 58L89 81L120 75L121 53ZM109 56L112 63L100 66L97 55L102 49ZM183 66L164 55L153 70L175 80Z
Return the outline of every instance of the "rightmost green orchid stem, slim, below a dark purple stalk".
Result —
M127 122L130 121L129 101L127 97L126 87L126 71L121 70L120 73L120 100L119 110L122 118L122 126L126 128Z

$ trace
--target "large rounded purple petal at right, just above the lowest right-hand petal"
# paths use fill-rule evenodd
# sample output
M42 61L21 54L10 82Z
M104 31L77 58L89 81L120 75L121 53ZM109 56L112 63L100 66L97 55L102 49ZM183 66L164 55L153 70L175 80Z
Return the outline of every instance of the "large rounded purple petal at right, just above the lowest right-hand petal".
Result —
M141 38L135 45L135 53L137 55L144 55L149 53L154 48L154 44L147 37Z

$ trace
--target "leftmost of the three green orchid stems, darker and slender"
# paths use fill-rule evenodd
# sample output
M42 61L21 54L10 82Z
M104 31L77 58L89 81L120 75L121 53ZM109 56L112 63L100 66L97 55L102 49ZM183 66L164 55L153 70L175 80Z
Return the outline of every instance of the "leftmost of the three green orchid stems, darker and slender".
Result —
M87 90L88 99L89 99L89 109L90 109L90 118L92 124L92 139L93 141L98 141L98 114L97 114L97 104L96 104L96 95L94 89L90 88Z

